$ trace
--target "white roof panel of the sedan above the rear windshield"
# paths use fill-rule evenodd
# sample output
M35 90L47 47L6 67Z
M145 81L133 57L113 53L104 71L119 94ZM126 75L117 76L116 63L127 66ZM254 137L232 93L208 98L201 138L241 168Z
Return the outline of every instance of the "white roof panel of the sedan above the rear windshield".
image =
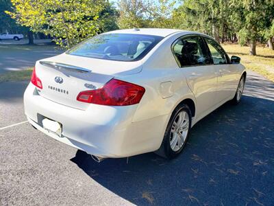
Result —
M105 34L146 34L146 35L166 37L176 32L186 32L186 31L173 30L173 29L160 29L160 28L132 28L127 30L115 30L115 31L107 32Z

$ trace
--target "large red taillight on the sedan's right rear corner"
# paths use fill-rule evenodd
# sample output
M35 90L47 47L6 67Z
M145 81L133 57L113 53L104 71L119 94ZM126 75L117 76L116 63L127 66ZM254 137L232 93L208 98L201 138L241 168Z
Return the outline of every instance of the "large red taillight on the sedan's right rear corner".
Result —
M138 104L144 93L144 87L112 79L100 89L81 91L77 100L108 106L126 106Z

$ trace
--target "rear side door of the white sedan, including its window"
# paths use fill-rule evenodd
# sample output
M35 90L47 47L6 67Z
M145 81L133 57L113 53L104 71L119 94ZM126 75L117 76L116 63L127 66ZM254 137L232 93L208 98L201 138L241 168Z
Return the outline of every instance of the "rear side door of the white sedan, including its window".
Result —
M199 119L209 113L216 102L216 69L210 65L210 56L206 54L200 36L182 36L173 43L173 52L188 87L195 95Z

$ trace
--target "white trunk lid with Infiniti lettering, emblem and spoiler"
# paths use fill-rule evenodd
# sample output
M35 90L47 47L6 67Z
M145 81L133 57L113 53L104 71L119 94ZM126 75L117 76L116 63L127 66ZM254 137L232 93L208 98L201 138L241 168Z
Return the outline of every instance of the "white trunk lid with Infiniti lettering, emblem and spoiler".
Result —
M80 91L99 89L117 76L141 71L134 62L114 62L62 54L36 62L36 75L42 82L39 95L53 102L85 110L89 104L77 101Z

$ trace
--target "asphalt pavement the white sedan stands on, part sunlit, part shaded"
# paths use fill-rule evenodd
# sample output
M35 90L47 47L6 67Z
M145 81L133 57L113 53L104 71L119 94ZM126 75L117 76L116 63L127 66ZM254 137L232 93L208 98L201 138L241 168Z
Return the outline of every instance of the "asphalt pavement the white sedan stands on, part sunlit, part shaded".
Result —
M26 83L0 84L0 128L25 121ZM192 128L182 155L92 161L21 124L0 130L0 205L274 205L274 84L249 72L238 106Z

